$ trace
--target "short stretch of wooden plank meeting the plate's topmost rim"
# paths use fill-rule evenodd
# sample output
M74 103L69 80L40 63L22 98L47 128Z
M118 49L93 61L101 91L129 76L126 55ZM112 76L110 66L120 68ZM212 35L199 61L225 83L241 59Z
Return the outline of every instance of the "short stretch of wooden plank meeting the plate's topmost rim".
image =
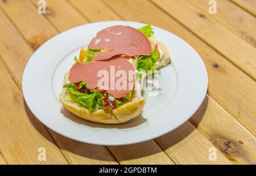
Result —
M118 16L101 0L68 0L90 22L118 20ZM92 8L93 7L93 8Z

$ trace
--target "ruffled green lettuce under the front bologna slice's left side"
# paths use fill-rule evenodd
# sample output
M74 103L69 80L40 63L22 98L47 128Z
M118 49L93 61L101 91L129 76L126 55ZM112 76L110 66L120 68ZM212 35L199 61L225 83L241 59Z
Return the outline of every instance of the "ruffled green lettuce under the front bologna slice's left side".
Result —
M88 90L88 93L76 91L76 87L73 83L65 84L63 87L69 89L71 94L76 97L76 102L79 105L90 111L94 110L97 107L97 104L100 106L104 106L104 96L102 96L101 93L96 90L89 91L89 89L86 88L86 84L84 81L79 84L79 88L84 87L86 90Z

